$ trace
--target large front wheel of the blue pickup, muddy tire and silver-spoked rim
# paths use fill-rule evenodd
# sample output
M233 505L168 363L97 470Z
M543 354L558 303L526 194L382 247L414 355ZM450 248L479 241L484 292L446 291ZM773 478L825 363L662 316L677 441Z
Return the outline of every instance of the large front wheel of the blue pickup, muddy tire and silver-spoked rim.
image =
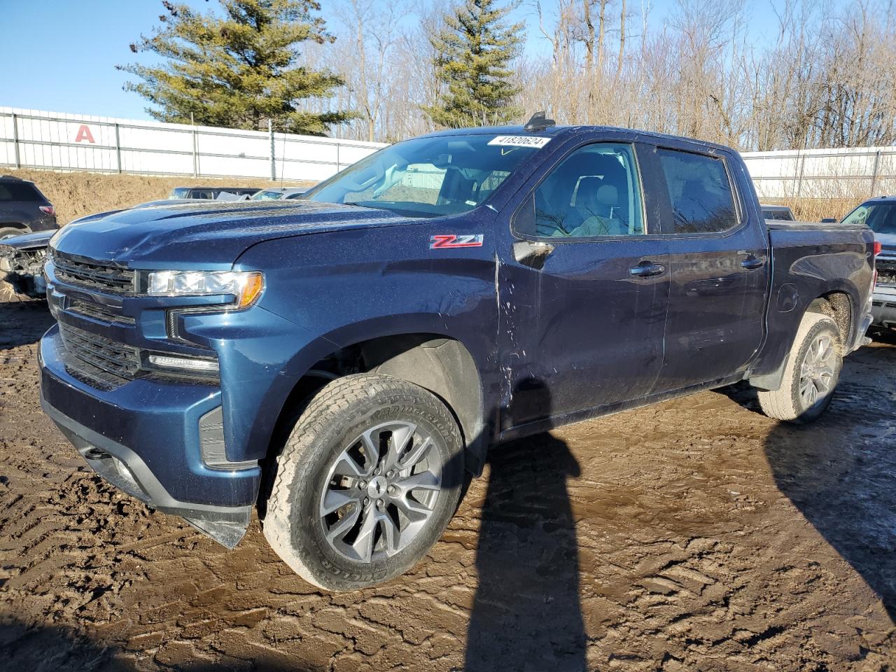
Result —
M327 384L277 460L264 536L307 582L354 590L426 555L461 496L463 444L434 394L385 375Z

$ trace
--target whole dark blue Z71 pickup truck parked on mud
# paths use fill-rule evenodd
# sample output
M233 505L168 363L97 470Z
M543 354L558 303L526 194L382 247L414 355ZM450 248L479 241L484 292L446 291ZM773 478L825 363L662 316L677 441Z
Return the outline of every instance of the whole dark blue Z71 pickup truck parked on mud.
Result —
M874 282L868 228L764 220L736 151L540 118L50 248L47 415L227 547L257 509L328 590L417 563L508 439L738 381L817 418Z

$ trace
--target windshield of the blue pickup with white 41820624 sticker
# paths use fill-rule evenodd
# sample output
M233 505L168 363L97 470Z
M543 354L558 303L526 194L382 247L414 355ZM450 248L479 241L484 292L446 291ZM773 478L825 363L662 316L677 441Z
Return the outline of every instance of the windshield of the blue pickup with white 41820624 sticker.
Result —
M470 211L550 138L444 135L399 142L353 164L306 194L410 217Z

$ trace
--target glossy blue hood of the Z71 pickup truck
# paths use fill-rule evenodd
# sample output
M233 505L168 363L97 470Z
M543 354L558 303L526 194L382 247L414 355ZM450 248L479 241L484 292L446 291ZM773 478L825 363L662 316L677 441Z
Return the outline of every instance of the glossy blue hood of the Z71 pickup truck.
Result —
M84 218L63 228L52 246L134 268L216 270L265 240L416 221L389 211L313 201L190 202Z

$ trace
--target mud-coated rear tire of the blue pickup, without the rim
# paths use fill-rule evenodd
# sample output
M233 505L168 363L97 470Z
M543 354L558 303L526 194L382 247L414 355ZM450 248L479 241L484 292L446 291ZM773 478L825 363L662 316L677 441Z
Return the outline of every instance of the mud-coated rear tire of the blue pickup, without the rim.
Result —
M830 340L833 346L831 352L832 375L828 390L819 393L817 400L810 404L800 393L801 373L813 345L824 338ZM834 388L840 379L842 366L843 344L840 341L840 330L837 328L837 323L821 313L806 313L797 329L797 337L794 339L793 346L790 348L780 388L769 392L758 392L762 413L769 418L795 424L804 424L819 418L831 403Z

